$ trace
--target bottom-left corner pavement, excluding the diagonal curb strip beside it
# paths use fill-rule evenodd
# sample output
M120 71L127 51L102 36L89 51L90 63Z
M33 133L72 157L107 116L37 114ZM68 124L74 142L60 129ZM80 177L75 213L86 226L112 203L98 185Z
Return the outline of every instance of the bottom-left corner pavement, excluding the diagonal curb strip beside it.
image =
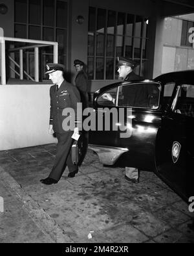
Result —
M2 172L2 170L1 170ZM0 242L53 242L43 233L25 210L24 202L14 195L14 190L0 181L0 195L4 198L4 212L0 212Z

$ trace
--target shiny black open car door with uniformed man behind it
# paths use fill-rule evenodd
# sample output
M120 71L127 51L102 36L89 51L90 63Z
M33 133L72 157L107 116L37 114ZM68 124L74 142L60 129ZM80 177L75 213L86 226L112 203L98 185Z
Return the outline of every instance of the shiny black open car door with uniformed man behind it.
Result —
M155 81L125 81L96 92L94 110L103 122L96 118L98 129L89 132L89 147L103 164L114 164L122 157L125 166L155 168L160 90Z

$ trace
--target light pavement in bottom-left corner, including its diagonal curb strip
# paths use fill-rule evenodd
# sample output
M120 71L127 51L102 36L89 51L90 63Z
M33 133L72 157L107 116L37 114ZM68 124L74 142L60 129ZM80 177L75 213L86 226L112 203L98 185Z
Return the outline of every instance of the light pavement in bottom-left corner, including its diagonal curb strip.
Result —
M0 168L0 242L72 242L65 232L39 207L9 173Z

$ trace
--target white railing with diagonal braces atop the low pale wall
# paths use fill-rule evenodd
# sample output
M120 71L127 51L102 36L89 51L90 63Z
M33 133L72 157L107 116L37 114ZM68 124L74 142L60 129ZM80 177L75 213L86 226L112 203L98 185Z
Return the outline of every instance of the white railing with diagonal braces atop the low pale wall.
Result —
M8 53L16 53L19 52L19 64L8 55L8 58L11 62L13 62L17 68L19 68L19 72L17 72L12 66L10 69L14 71L17 75L19 75L19 79L23 80L23 75L27 75L29 79L32 81L39 82L39 48L40 47L48 47L53 46L53 62L58 63L58 42L48 42L41 40L30 40L23 38L10 38L0 36L0 74L1 74L1 84L6 84L6 41L9 42L21 42L25 44L32 44L23 47L16 47L8 49ZM34 79L24 70L23 65L23 52L27 49L34 49Z

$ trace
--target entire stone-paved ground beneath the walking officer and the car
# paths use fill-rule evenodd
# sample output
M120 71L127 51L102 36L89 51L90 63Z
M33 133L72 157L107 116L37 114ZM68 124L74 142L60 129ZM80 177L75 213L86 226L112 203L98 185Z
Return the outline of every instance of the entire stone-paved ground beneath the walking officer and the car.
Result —
M76 177L65 170L58 184L40 183L55 149L0 151L0 242L194 242L188 205L154 173L133 185L89 150Z

